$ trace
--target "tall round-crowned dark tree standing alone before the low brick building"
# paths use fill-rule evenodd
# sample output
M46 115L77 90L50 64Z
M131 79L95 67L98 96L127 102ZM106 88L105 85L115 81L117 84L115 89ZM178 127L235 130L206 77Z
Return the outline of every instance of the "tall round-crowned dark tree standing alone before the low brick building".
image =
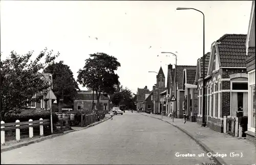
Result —
M96 92L96 108L101 110L99 98L101 93L112 94L119 85L119 76L115 73L120 63L117 58L105 53L90 54L83 69L79 69L77 81Z

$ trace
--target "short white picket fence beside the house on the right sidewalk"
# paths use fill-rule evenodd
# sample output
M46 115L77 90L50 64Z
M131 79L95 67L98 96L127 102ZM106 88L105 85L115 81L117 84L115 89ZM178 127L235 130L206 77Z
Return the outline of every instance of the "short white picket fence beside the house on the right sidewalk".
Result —
M231 118L224 116L223 132L234 137L242 138L242 127L240 126L238 117Z

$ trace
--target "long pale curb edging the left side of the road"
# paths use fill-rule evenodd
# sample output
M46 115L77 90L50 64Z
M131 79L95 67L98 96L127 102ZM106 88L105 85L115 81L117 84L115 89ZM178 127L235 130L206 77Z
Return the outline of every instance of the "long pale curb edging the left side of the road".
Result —
M10 147L1 149L1 153L2 153L2 152L6 152L6 151L10 151L10 150L14 150L14 149L17 149L17 148L21 148L21 147L24 147L24 146L28 146L28 145L31 145L31 144L33 144L33 143L37 143L37 142L44 141L44 140L47 140L47 139L51 139L51 138L54 138L54 137L58 137L58 136L61 136L61 135L65 135L65 134L68 134L68 133L71 133L71 132L84 130L84 129L87 129L87 128L92 127L92 126L96 126L96 125L98 125L99 123L104 122L104 121L106 121L106 120L108 120L108 119L110 119L110 118L111 118L111 117L108 117L108 118L106 118L106 119L104 119L104 120L101 120L101 121L92 123L91 125L89 125L89 126L87 126L87 127L84 127L84 128L82 128L82 129L79 129L79 130L65 131L65 132L60 133L60 134L49 135L49 136L41 137L41 138L36 139L36 140L33 140L33 141L28 141L28 142L21 143L21 144L15 145L15 146L10 146Z

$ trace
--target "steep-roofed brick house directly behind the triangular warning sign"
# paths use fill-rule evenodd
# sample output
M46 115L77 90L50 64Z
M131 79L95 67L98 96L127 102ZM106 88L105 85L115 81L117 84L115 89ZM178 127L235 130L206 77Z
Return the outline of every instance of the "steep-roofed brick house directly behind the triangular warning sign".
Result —
M183 101L184 101L184 90L183 90L183 70L184 69L194 69L196 70L197 66L176 66L174 72L174 86L173 91L176 96L177 89L177 118L183 118ZM176 83L176 69L177 69L177 83ZM178 86L178 87L177 87ZM172 107L173 110L176 110L175 104Z

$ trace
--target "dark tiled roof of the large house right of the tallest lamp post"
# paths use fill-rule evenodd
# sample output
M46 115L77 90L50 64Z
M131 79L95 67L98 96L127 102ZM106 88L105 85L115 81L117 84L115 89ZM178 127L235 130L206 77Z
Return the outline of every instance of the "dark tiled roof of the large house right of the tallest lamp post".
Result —
M225 34L216 42L220 67L245 67L246 34ZM213 59L213 58L212 58Z

